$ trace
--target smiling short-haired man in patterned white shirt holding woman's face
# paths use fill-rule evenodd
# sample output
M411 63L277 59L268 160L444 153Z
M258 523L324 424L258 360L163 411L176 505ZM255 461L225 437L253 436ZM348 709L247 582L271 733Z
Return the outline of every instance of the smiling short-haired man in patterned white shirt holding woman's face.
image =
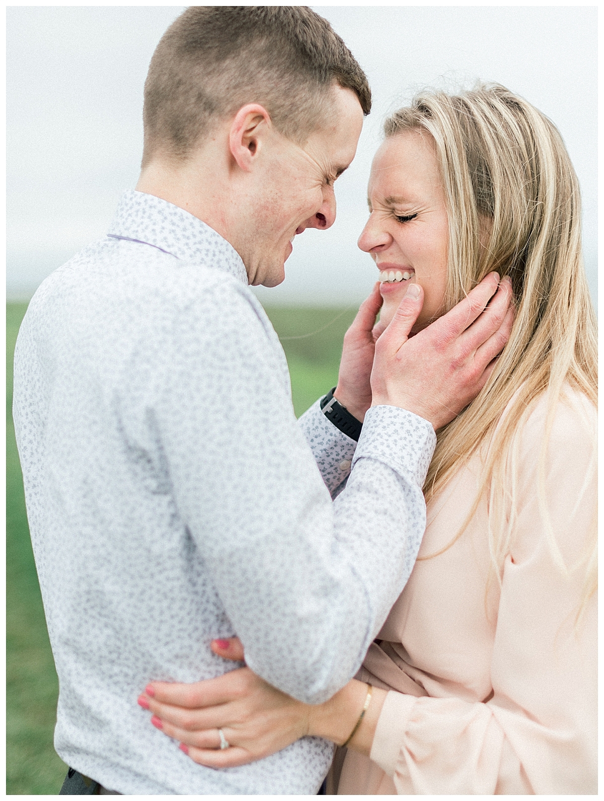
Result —
M369 409L374 292L336 400L296 423L248 284L279 284L293 237L333 223L369 108L362 70L311 10L191 7L151 61L137 190L31 301L14 417L60 682L55 747L102 792L316 792L328 743L211 771L136 699L151 678L228 670L209 644L232 634L297 698L343 686L413 567L434 429L505 341L502 292L465 331L497 276L407 343L409 293L373 364L388 402Z

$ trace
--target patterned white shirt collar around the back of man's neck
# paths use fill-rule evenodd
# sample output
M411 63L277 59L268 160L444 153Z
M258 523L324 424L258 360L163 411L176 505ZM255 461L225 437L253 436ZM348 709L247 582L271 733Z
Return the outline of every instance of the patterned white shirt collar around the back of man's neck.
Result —
M108 234L149 244L184 261L222 268L246 286L241 256L213 228L167 200L129 189L122 195Z

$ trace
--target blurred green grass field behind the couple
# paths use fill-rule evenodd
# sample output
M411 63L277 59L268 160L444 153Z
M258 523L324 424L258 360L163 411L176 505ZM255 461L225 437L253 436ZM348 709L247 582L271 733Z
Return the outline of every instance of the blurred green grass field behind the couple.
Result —
M58 681L10 413L14 343L26 308L26 304L6 305L6 793L55 795L66 772L53 748ZM294 409L300 416L336 384L342 339L356 309L267 308L267 312L288 356Z

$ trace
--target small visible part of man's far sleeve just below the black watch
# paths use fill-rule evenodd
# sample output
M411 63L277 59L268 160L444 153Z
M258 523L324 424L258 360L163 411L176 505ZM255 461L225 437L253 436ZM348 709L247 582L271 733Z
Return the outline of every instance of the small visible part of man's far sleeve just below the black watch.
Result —
M304 412L298 425L308 441L329 492L333 493L350 475L356 442L336 429L320 409L320 401Z

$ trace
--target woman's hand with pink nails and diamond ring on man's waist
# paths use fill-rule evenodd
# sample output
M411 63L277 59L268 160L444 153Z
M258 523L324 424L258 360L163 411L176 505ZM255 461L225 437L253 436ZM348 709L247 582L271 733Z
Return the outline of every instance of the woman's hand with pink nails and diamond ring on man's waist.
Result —
M244 658L238 638L214 640L211 649L236 662ZM248 667L193 684L151 682L139 705L154 713L155 727L207 767L245 765L308 734L310 707L276 690ZM219 728L230 743L224 750Z

